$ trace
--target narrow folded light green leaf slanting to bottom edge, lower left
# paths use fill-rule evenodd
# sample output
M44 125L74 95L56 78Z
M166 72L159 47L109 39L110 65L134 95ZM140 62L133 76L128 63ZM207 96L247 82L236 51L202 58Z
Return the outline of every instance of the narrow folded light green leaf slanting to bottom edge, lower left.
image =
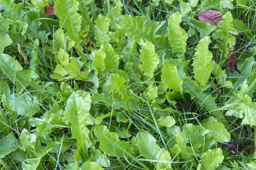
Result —
M33 159L26 159L22 162L22 169L23 170L37 170L37 167L41 161L41 159L53 148L55 147L58 142L52 142L50 143L46 149L43 151L43 153L39 154L37 153L38 157Z

